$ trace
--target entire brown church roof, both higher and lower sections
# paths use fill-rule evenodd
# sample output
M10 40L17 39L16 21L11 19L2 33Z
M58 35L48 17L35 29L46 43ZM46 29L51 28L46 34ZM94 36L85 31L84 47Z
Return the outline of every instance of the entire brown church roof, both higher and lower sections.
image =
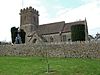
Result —
M54 33L60 33L60 32L70 32L71 26L78 25L78 24L86 24L86 21L76 21L76 22L70 22L65 23L65 21L61 22L55 22L55 23L49 23L49 24L43 24L39 25L38 27L38 33L47 35L47 34L54 34Z

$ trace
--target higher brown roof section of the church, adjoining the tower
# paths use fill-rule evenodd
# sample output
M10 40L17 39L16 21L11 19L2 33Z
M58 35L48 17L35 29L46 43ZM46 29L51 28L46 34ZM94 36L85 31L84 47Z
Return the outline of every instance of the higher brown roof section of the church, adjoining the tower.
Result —
M62 31L65 22L55 22L49 24L39 25L38 31L40 34L54 34Z

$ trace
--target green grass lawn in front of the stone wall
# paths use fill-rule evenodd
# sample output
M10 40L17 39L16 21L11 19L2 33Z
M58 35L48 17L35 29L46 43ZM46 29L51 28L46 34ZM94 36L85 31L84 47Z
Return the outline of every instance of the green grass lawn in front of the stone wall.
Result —
M0 57L0 75L100 75L100 59Z

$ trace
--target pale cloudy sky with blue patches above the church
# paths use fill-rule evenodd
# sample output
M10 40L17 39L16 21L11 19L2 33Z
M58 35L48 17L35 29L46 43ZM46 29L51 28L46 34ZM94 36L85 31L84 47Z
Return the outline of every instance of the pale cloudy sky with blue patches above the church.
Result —
M89 35L100 33L100 0L2 0L0 41L11 41L11 27L20 27L20 9L29 6L39 11L39 24L86 18Z

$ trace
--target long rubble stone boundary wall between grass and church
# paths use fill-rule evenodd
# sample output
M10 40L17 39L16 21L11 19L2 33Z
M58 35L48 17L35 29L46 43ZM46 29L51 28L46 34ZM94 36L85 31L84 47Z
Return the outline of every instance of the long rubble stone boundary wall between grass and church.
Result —
M100 42L0 45L0 56L100 58Z

